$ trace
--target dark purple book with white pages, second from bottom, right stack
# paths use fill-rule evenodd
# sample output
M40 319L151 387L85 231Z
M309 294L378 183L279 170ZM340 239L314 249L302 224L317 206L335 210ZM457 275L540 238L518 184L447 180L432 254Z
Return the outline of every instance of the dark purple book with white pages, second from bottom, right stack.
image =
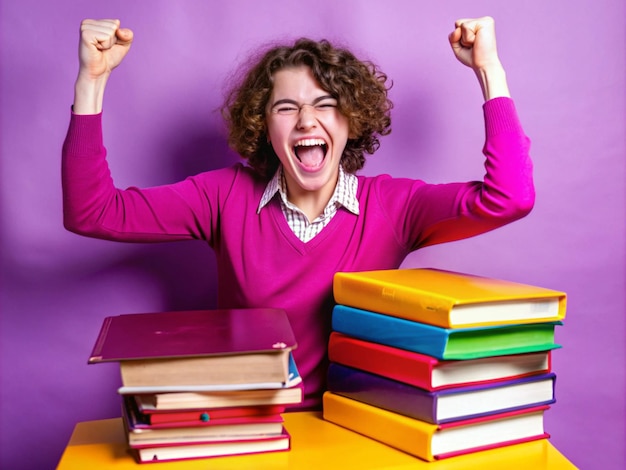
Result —
M555 380L547 373L429 392L337 363L328 368L329 391L432 424L554 403Z

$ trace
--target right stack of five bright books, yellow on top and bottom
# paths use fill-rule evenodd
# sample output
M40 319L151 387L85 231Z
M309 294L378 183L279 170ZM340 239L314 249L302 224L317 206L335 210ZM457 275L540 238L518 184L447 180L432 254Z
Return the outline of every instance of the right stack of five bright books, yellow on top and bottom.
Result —
M431 268L333 289L326 420L427 461L549 437L565 293Z

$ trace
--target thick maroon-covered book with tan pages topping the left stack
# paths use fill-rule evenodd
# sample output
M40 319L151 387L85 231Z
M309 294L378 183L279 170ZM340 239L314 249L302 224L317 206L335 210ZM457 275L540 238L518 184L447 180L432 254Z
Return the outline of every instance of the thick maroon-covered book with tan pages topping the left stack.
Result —
M107 317L89 363L119 362L124 387L286 383L296 340L279 309Z

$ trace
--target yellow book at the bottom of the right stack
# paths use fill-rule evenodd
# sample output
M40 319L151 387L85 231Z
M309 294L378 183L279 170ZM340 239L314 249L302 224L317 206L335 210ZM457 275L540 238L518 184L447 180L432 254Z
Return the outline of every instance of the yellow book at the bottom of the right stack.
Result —
M548 406L447 424L430 424L357 400L324 393L324 419L429 462L549 437Z

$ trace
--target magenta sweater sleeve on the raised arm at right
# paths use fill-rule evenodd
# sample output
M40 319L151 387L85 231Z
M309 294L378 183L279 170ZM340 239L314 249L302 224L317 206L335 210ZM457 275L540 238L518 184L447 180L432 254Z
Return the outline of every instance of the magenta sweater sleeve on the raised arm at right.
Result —
M475 236L532 210L530 140L515 105L510 98L495 98L484 104L483 111L483 181L433 185L405 180L396 185L388 180L388 188L381 192L388 216L398 227L399 242L410 250Z

